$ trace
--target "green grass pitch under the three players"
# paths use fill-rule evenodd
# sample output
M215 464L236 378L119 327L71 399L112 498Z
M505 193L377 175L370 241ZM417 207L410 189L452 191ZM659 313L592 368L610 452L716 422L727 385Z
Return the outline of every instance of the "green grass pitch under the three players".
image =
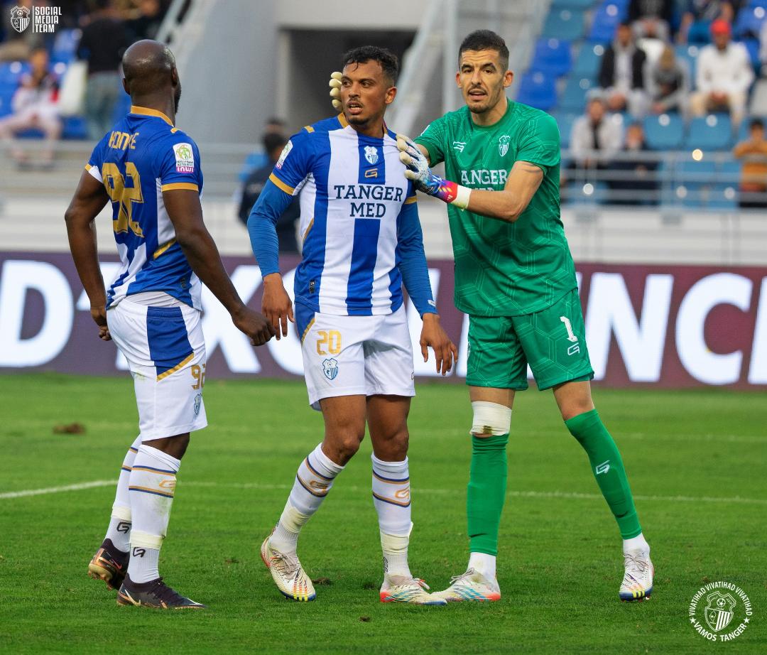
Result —
M210 426L179 472L160 570L202 612L117 607L87 578L114 489L9 498L110 480L137 433L129 377L0 376L0 650L4 653L767 652L767 402L727 390L607 390L594 398L626 462L657 576L650 601L617 600L621 541L551 393L520 393L509 443L499 603L380 604L370 443L299 542L317 601L281 597L258 546L322 435L301 382L206 383ZM413 573L463 572L470 405L421 384L410 415ZM54 434L82 423L80 435ZM707 581L738 584L752 624L707 643L687 609Z

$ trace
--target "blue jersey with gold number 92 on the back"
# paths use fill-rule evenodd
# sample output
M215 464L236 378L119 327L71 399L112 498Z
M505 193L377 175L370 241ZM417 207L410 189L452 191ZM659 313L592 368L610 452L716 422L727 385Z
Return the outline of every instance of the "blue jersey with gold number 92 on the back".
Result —
M163 202L163 191L202 193L196 143L162 112L133 106L100 140L86 168L112 201L122 263L107 292L107 308L127 295L164 291L201 309L202 285L176 242Z

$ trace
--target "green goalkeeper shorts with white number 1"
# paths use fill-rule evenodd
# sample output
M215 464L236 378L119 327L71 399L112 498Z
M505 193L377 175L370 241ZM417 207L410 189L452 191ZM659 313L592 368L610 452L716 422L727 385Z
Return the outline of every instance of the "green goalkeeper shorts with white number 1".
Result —
M530 364L539 390L591 380L578 291L535 314L470 316L466 384L524 390Z

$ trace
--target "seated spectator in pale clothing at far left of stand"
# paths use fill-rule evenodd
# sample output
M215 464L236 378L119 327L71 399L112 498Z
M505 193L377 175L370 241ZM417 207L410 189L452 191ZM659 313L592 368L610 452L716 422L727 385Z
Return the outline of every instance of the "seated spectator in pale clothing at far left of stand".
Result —
M31 71L21 78L21 84L13 95L13 114L0 119L0 140L8 142L18 132L41 130L47 142L42 164L53 164L54 144L61 137L61 120L58 116L58 79L48 68L48 51L38 48L29 58ZM25 153L18 148L12 156L19 166L28 164Z

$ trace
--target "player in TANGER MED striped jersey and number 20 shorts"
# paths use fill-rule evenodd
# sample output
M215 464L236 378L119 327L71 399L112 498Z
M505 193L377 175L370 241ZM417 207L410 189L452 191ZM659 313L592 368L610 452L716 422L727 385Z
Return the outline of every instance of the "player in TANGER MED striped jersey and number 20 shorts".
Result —
M296 555L298 533L359 449L367 422L384 551L380 599L444 604L410 574L407 561L407 414L415 391L403 283L423 318L424 360L432 347L437 370L446 374L457 351L439 325L415 191L403 177L397 135L384 123L398 70L397 58L382 48L344 55L343 114L291 137L248 221L264 276L262 311L279 339L294 314L279 274L275 224L300 192L303 258L295 274L295 322L309 403L322 411L325 434L298 467L261 549L278 589L296 601L315 597Z

